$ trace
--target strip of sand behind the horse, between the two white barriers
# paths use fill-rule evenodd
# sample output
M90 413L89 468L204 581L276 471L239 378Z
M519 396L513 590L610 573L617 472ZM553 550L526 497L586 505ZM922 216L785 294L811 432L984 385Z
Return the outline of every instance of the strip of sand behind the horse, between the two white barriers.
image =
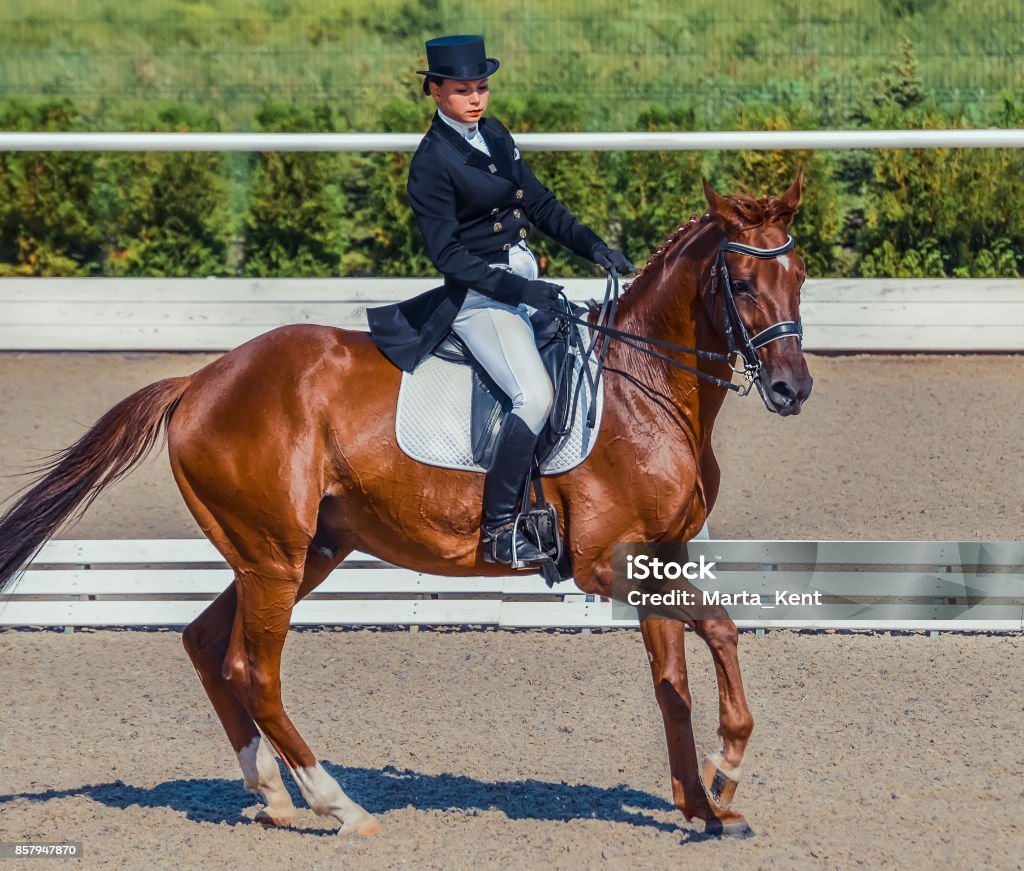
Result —
M129 393L195 372L203 354L0 354L4 478L81 436ZM730 396L715 428L722 538L989 538L1024 530L1024 356L810 358L797 418ZM60 537L199 534L166 453Z

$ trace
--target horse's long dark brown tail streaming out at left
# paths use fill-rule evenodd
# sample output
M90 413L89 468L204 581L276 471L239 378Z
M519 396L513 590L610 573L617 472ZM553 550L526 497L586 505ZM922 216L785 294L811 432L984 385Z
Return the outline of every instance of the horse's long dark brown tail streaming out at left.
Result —
M190 381L191 376L169 378L122 399L37 470L42 474L28 485L31 489L0 518L0 595L76 509L81 516L145 458Z

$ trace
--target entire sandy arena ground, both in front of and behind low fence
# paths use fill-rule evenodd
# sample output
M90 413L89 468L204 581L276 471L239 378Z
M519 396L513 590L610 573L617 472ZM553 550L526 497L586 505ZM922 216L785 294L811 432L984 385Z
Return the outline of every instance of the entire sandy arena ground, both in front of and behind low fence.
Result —
M0 354L0 475L208 359ZM1021 537L1024 357L814 356L810 367L799 418L727 400L716 537ZM17 485L3 478L0 497ZM61 537L197 534L161 453ZM717 748L714 673L702 643L688 650L705 753ZM737 805L757 836L743 841L707 838L671 805L636 632L293 633L286 704L379 815L369 839L340 839L310 811L291 830L251 822L258 805L177 633L7 630L0 656L0 841L81 841L83 867L1024 861L1020 635L744 635L757 726Z

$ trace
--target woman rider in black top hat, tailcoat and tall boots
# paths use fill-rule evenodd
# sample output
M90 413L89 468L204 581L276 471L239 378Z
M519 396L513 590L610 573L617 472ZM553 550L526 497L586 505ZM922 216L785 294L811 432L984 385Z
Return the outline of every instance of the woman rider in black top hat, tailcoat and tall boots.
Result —
M488 79L499 61L483 38L447 36L426 43L423 92L437 104L409 169L409 202L444 286L396 305L371 309L378 347L412 371L452 330L512 401L483 484L483 558L512 563L519 494L553 389L534 341L529 315L552 306L561 287L538 279L526 245L530 224L606 269L632 272L537 180L512 136L484 118ZM517 565L545 559L525 537Z

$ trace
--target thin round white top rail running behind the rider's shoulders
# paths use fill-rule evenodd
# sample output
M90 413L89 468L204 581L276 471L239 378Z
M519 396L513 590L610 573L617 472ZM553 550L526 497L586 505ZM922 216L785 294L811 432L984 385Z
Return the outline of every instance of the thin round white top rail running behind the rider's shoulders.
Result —
M0 133L8 151L414 151L419 133ZM1020 148L1024 129L516 133L534 151Z

